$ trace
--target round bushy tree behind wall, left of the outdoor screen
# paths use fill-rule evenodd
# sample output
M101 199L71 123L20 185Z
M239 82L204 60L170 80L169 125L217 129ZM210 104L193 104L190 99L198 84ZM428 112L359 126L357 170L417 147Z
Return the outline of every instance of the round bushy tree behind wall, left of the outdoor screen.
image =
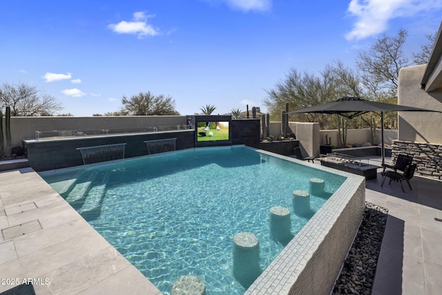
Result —
M130 98L123 96L122 110L124 115L180 115L175 111L175 100L170 96L153 95L150 91L140 92Z

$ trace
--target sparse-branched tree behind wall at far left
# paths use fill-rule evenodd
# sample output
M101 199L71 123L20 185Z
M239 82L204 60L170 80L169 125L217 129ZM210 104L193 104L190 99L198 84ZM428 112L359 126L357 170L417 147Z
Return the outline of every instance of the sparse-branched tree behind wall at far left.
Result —
M1 84L0 108L4 109L6 106L10 106L13 117L54 115L63 109L55 97L40 94L35 86L25 83Z

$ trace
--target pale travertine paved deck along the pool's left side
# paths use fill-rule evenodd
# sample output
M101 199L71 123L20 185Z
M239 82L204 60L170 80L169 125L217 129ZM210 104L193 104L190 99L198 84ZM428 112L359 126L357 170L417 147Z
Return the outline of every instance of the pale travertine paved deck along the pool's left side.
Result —
M32 169L0 173L0 292L162 294Z

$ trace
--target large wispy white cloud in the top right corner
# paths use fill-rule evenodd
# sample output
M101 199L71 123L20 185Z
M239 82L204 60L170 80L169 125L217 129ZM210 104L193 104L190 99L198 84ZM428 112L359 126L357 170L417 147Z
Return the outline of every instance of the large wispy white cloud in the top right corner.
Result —
M385 32L387 23L396 17L421 15L425 10L442 8L442 0L352 0L347 11L357 18L345 38L364 39Z

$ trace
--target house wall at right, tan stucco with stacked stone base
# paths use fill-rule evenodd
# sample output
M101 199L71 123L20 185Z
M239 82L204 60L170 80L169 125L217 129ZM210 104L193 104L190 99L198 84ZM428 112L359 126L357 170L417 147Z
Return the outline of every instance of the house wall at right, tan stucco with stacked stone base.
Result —
M399 71L398 104L439 111L398 112L392 155L413 155L418 175L442 180L442 23L427 64Z

